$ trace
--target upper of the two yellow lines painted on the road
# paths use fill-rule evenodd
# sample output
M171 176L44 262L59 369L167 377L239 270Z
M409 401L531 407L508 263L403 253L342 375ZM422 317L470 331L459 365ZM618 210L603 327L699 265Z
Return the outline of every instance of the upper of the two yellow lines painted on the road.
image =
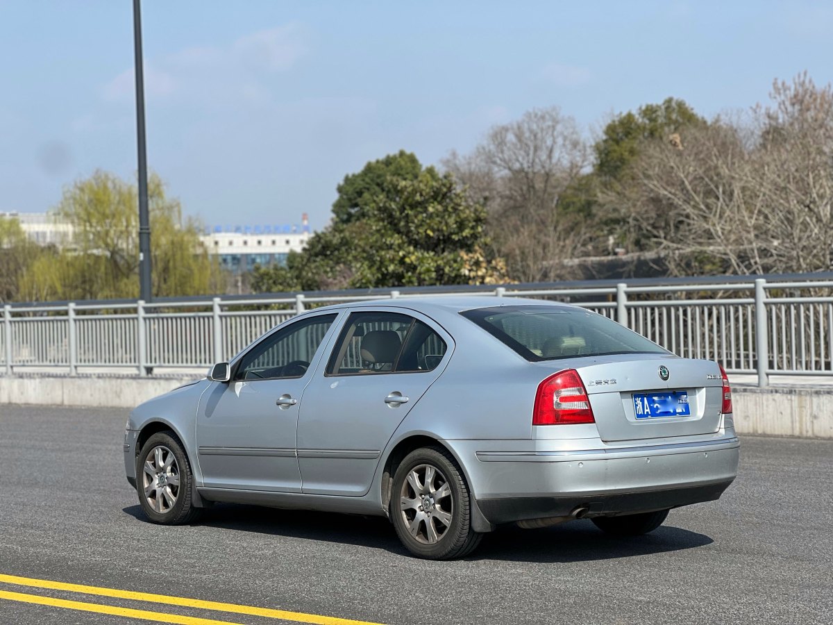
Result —
M118 599L130 599L132 601L146 601L151 603L163 603L169 606L197 607L203 610L215 610L217 612L232 612L235 614L248 614L255 617L280 618L284 621L308 622L313 625L379 625L379 623L367 621L353 621L349 618L325 617L319 614L307 614L304 612L288 612L286 610L273 610L268 607L242 606L237 603L222 603L217 601L202 601L201 599L190 599L187 597L170 597L168 595L157 595L150 592L133 592L131 590L118 590L117 588L103 588L97 586L83 586L66 582L54 582L50 579L33 579L32 577L17 577L16 575L5 575L0 573L0 582L27 586L33 588L48 588L50 590L63 590L67 592L81 592L87 595L99 597L115 597ZM5 593L17 594L17 593ZM24 595L27 596L27 595ZM50 601L59 601L50 599ZM87 605L87 604L83 604ZM95 604L89 604L95 605ZM113 608L122 609L122 608ZM148 612L152 613L152 612ZM182 617L185 618L185 617ZM179 622L179 621L170 621ZM183 621L184 622L184 621ZM191 621L188 621L191 622ZM199 621L194 621L199 622ZM202 621L212 622L212 621ZM220 621L213 621L220 622Z

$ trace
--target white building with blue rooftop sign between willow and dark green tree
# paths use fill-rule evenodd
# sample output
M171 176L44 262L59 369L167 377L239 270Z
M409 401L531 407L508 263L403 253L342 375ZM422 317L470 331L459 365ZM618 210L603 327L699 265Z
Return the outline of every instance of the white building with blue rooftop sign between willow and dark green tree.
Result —
M215 226L202 235L202 243L209 254L219 257L220 266L241 274L252 271L256 265L283 265L290 252L300 252L307 247L310 233L309 220L304 213L301 226Z

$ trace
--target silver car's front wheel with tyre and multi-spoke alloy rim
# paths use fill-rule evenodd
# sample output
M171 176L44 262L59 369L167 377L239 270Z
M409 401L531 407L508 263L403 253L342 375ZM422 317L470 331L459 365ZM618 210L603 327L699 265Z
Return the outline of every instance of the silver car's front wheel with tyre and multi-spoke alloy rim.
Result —
M136 458L136 492L147 517L162 525L182 525L199 515L193 506L191 463L170 431L157 432Z

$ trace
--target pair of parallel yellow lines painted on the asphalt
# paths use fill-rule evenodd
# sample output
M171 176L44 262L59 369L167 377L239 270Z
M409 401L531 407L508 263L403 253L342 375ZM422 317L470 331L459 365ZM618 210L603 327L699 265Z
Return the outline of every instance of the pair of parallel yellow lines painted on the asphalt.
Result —
M194 607L202 610L215 612L231 612L234 614L246 614L254 617L278 618L283 621L307 622L314 625L378 625L367 621L353 621L348 618L327 617L319 614L307 614L304 612L288 612L287 610L273 610L268 607L242 606L237 603L223 603L217 601L202 601L187 597L170 597L168 595L157 595L150 592L133 592L130 590L118 590L117 588L102 588L97 586L83 586L66 582L54 582L49 579L32 579L32 577L17 577L16 575L4 575L0 573L0 583L14 584L30 588L41 588L45 590L59 590L63 592L78 592L85 595L97 597L112 597L127 599L130 601L144 601L159 603L168 606ZM149 610L137 610L131 607L118 607L102 603L87 603L71 601L68 599L57 599L25 592L9 592L0 590L0 599L22 603L34 603L42 606L62 607L67 610L80 610L82 612L97 612L99 614L112 614L119 617L139 618L145 621L172 622L179 625L242 625L231 621L216 621L211 618L186 617L180 614L168 614L167 612L152 612Z

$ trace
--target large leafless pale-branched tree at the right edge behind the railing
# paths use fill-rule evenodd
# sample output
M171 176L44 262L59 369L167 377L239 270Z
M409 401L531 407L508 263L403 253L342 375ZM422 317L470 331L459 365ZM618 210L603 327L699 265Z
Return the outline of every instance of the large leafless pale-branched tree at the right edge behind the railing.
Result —
M717 119L641 149L626 185L603 198L671 273L831 268L833 90L776 82L750 122Z

